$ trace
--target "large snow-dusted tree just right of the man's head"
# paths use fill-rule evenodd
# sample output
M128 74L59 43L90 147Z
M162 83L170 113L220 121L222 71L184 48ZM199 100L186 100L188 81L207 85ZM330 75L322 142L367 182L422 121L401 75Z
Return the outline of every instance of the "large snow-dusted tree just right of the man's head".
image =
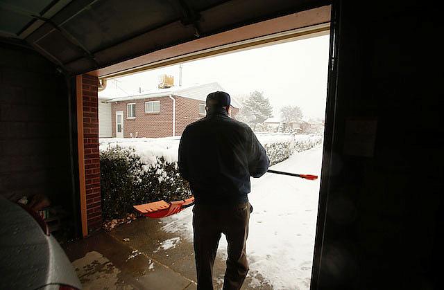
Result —
M253 91L243 102L239 114L239 120L253 126L254 130L256 129L257 124L264 123L266 119L272 116L273 107L271 107L268 98L264 97L262 91Z

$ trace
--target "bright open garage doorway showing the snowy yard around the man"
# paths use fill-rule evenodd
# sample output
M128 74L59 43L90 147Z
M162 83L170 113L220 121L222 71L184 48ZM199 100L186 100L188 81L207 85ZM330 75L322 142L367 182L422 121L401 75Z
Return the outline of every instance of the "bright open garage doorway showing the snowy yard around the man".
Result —
M173 164L183 129L205 118L212 91L230 93L232 118L250 125L271 169L320 176L328 51L329 35L321 35L107 80L99 91L105 227L117 226L134 203L189 196ZM246 289L308 289L319 179L267 173L251 182ZM139 240L139 251L195 280L191 217L188 209L155 221L137 219L110 233ZM226 246L222 237L215 285L223 282Z

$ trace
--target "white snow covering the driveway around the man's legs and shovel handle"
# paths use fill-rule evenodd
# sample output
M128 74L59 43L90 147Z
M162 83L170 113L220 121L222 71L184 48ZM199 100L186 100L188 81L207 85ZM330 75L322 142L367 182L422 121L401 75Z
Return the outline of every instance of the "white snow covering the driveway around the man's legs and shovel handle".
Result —
M293 154L271 167L294 173L321 176L322 147ZM248 196L253 205L247 255L249 275L262 275L274 289L309 289L318 211L319 179L266 173L251 179ZM192 212L184 210L164 219L163 230L192 240ZM218 255L226 257L221 238ZM253 279L253 281L255 281ZM250 285L255 287L255 285Z

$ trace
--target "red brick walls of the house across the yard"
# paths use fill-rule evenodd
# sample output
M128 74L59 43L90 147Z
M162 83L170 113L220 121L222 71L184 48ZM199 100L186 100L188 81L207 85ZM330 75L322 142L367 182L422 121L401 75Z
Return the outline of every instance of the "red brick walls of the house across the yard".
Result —
M173 96L176 99L176 136L180 136L190 123L205 115L199 114L199 104L205 101ZM145 113L145 102L160 101L159 113ZM136 104L136 117L127 118L127 105ZM173 134L173 101L169 97L147 98L141 100L128 100L112 103L112 136L116 137L116 112L123 111L123 137L149 137L159 138ZM232 116L239 113L239 109L232 108Z

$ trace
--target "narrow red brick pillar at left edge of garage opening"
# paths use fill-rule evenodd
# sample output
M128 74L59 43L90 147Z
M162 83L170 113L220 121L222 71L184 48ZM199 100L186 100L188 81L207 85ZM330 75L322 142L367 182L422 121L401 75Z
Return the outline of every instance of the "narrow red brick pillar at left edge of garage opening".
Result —
M82 75L83 149L85 156L85 188L88 231L101 228L98 80Z

